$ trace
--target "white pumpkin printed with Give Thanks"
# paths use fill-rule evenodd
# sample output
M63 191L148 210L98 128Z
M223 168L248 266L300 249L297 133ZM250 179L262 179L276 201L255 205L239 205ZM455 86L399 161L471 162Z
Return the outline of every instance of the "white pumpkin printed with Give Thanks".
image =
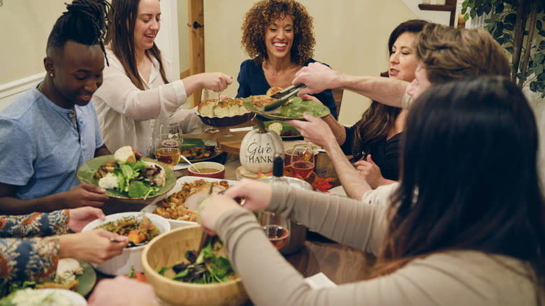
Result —
M274 131L254 129L240 143L240 164L253 173L273 171L275 154L284 159L282 138Z

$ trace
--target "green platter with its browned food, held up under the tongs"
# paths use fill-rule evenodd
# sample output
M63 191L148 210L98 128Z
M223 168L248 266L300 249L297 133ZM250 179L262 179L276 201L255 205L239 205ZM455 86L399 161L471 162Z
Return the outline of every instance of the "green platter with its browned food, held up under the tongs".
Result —
M316 101L303 100L298 96L289 99L289 101L279 108L266 111L266 105L274 103L275 101L276 99L266 95L249 96L245 99L244 105L252 112L273 120L302 120L305 119L303 117L303 113L305 112L314 117L326 117L330 114L326 105Z

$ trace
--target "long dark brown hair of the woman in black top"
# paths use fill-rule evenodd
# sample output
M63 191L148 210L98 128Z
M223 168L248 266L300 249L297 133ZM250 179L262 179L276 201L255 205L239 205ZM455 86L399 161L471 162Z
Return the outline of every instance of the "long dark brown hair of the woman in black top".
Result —
M388 54L391 56L393 44L401 34L406 32L419 33L426 24L428 24L426 20L407 20L400 23L398 27L393 29L390 38L388 38ZM381 73L380 76L388 78L388 72ZM393 128L395 119L398 118L400 112L401 108L372 101L369 108L361 115L361 120L356 123L352 154L356 155L362 150L370 152L370 148L375 143L388 136L388 132Z

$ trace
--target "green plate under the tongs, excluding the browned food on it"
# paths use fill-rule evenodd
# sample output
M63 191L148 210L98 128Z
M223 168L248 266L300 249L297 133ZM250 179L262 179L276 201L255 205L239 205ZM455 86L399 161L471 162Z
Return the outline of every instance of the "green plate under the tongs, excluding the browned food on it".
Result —
M273 120L303 120L305 119L303 118L304 112L314 117L326 117L329 115L329 108L326 105L315 101L303 100L298 96L291 99L289 103L269 112L264 111L263 108L257 108L249 98L245 99L244 105L249 110L252 110L252 112Z

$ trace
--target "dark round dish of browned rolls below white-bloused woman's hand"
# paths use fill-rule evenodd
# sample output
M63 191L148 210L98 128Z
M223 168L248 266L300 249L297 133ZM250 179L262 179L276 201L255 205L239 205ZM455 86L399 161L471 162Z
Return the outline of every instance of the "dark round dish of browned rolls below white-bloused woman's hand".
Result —
M226 98L219 102L217 99L203 100L198 105L196 115L210 126L233 126L254 117L241 98Z

